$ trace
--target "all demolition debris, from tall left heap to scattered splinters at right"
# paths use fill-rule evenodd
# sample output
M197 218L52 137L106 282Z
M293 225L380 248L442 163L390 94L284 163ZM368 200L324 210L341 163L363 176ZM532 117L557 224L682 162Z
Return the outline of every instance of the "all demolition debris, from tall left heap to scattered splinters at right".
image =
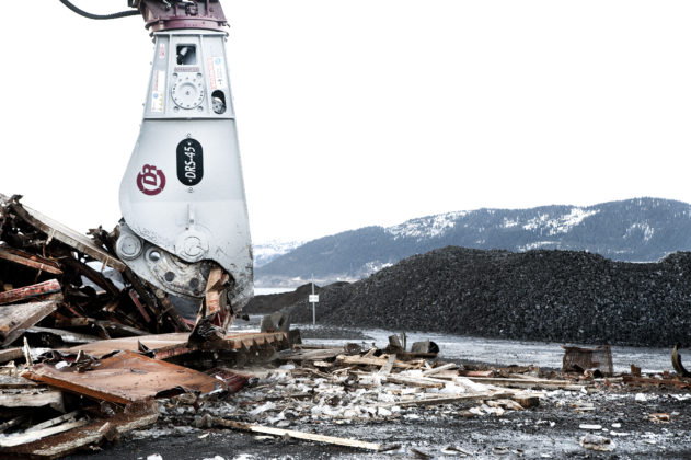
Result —
M299 331L191 342L193 322L129 273L112 241L100 229L76 234L19 197L0 196L0 458L51 459L113 448L124 437L204 432L204 439L227 430L356 453L473 457L480 452L468 446L346 428L528 424L514 414L533 414L540 429L554 426L540 416L553 410L581 417L574 422L580 449L617 452L631 432L592 418L600 407L624 398L655 404L660 389L673 392L673 404L691 401L681 371L645 375L632 366L614 375L609 347L564 347L564 368L544 370L446 363L437 344L408 346L405 334L378 346L301 344ZM678 347L673 356L683 369ZM684 419L666 407L646 410L645 423ZM649 433L641 439L663 439ZM523 452L494 445L484 453Z

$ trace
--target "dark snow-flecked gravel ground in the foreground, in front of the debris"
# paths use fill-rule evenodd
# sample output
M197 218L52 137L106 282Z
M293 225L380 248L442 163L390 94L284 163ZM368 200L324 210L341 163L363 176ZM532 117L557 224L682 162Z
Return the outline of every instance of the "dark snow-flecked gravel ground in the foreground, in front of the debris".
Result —
M353 437L373 442L400 445L390 452L370 453L345 447L300 440L257 437L246 433L192 427L193 416L163 419L153 429L101 452L70 459L146 459L159 453L168 459L399 459L419 458L415 450L431 458L462 458L445 453L457 447L470 458L599 458L684 459L691 456L691 395L653 391L636 401L635 392L607 391L595 394L546 392L533 410L507 412L503 416L465 418L467 404L416 410L400 418L372 423L314 423L291 429L311 430L332 436ZM577 407L594 405L589 412ZM669 423L654 423L649 414L672 414ZM592 432L581 425L600 425ZM585 449L580 445L588 433L611 439L610 452ZM448 450L447 450L448 451Z

